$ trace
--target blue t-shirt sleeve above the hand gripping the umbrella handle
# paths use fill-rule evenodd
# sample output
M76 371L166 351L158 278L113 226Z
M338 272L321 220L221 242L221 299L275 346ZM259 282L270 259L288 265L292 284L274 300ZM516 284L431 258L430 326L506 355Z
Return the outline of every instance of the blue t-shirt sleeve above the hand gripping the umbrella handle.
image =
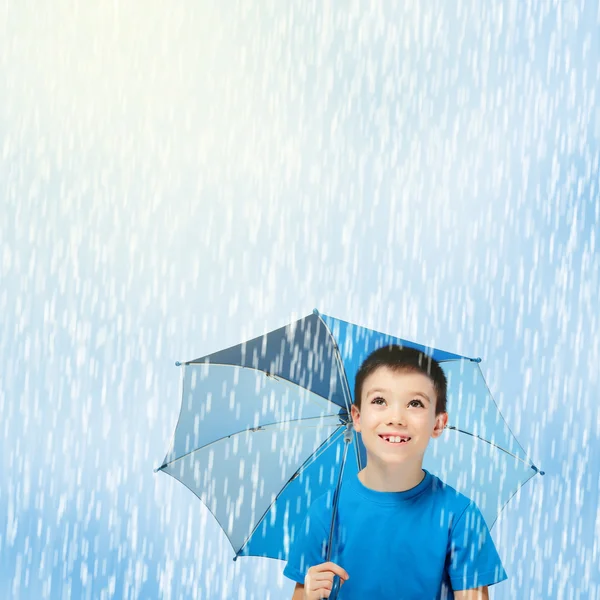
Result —
M297 583L304 583L308 569L325 562L327 556L329 530L318 509L318 505L311 506L300 528L293 532L283 574Z

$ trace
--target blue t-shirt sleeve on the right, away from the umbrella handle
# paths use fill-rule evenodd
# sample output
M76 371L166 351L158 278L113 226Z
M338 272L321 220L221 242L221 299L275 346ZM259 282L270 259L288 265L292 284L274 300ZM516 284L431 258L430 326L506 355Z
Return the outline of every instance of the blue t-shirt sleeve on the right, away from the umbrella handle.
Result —
M455 590L470 590L507 579L483 515L469 503L452 527L448 574Z

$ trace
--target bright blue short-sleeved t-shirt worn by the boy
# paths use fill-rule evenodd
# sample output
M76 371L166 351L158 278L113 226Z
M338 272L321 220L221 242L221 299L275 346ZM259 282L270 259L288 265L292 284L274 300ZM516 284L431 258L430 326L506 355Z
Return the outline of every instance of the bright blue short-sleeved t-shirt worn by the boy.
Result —
M507 578L477 506L424 472L405 492L378 492L358 477L343 483L330 559L350 576L339 600L446 600ZM331 496L316 499L295 532L283 571L294 581L326 562Z

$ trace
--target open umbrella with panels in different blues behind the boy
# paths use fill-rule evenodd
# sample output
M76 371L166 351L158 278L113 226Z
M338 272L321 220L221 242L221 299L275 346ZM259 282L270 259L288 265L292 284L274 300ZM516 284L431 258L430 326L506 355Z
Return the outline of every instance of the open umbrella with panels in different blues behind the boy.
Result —
M543 475L502 418L480 359L315 310L250 341L177 363L181 412L157 471L181 481L208 507L234 560L287 560L295 531L321 494L333 495L333 525L341 482L366 462L351 426L354 378L371 352L389 344L422 350L444 369L448 427L430 444L423 466L474 500L490 528L516 491Z

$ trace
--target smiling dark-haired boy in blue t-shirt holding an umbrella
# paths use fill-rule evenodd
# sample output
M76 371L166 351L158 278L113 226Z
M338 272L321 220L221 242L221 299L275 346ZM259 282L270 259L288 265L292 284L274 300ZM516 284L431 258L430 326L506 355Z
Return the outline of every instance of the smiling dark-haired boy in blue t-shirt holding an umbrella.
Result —
M413 348L385 346L361 365L352 420L367 464L342 485L331 561L325 562L330 495L311 505L284 575L292 600L483 600L507 578L473 502L423 470L431 438L447 422L439 364Z

